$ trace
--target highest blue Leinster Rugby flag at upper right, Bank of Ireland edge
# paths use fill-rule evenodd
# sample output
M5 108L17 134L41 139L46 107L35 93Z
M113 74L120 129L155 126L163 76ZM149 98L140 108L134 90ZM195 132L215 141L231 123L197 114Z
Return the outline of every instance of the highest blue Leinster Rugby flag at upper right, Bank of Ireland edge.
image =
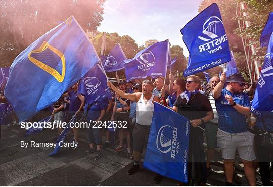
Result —
M216 3L188 22L180 32L190 52L184 77L231 60L228 38Z

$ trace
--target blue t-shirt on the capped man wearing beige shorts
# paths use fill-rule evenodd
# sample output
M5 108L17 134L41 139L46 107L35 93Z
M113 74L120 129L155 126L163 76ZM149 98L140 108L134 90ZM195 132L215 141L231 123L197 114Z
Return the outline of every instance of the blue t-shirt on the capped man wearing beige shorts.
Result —
M229 133L240 133L248 131L246 117L235 110L228 100L225 99L225 95L230 95L233 97L233 101L237 105L250 108L250 102L248 95L233 94L226 88L222 90L221 96L215 99L215 105L218 112L218 125L219 129L229 132Z

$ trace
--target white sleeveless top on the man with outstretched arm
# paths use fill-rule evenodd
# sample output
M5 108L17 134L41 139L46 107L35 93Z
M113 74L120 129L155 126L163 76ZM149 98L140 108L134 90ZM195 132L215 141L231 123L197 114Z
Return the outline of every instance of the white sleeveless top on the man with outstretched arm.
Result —
M149 101L144 101L143 94L141 94L138 103L136 103L136 123L145 126L151 125L154 112L153 99L154 95Z

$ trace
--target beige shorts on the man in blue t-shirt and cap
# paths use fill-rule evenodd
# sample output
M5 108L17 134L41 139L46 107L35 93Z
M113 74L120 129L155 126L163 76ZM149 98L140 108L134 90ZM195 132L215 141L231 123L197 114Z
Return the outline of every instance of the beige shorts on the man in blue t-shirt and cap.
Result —
M255 160L254 137L255 135L249 131L228 133L218 129L217 143L221 148L222 157L227 160L234 159L237 149L241 159L246 161Z

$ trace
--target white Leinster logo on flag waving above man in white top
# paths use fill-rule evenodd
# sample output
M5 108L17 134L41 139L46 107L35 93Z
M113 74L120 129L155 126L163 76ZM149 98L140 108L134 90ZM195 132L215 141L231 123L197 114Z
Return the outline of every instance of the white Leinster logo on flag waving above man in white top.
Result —
M155 65L155 56L151 51L144 51L136 60L141 64L138 69L142 71L150 70Z

